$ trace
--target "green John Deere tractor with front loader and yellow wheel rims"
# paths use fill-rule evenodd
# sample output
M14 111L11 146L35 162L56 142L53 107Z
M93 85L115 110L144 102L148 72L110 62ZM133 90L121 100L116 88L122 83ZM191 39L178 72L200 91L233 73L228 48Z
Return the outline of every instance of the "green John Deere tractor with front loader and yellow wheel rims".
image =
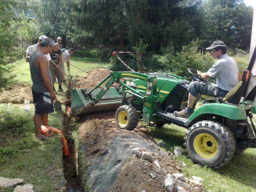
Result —
M217 169L229 162L235 151L256 148L252 114L256 114L255 87L247 93L255 59L256 49L239 84L225 98L205 99L188 119L173 113L186 108L190 82L168 73L111 72L93 89L71 90L71 114L117 109L116 124L121 129L133 130L139 119L151 126L167 123L187 128L184 145L189 157ZM205 81L193 71L189 69L194 81ZM113 87L114 83L119 86Z

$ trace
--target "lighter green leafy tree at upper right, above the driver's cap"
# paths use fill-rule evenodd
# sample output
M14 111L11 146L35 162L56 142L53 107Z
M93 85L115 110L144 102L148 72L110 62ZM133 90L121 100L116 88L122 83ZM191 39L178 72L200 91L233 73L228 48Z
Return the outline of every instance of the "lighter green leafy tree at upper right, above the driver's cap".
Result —
M202 6L204 28L202 38L205 46L221 40L233 49L250 47L253 9L243 0L206 0Z

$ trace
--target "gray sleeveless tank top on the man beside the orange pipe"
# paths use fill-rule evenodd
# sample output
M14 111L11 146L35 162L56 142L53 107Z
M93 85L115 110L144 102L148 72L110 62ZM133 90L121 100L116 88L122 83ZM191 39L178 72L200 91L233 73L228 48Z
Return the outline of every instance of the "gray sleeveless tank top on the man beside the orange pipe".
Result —
M33 54L29 57L29 68L30 68L30 75L32 79L32 90L39 92L39 93L49 93L49 90L45 87L43 83L43 79L41 77L41 72L38 67L35 67L35 59L38 58L38 56L44 55L42 53L39 54ZM47 75L50 79L50 82L52 82L52 76L49 70L49 65L47 64Z

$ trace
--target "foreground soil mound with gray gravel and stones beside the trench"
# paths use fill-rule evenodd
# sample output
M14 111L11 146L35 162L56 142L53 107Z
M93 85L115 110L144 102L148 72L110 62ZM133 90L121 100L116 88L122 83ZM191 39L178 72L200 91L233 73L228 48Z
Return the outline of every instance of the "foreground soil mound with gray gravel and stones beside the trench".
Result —
M166 191L166 175L182 171L174 155L160 151L141 124L134 131L121 130L115 124L115 112L84 116L79 127L78 139L86 142L78 150L86 154L88 170L78 175L91 184L94 192ZM131 151L136 147L154 154L159 166L134 156ZM175 186L200 191L192 183L177 179Z

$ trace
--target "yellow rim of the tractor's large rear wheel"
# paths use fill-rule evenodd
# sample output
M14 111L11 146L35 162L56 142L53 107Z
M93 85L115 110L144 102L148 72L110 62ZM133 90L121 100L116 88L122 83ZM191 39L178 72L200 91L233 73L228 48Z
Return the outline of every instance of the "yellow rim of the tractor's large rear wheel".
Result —
M214 157L218 152L217 141L210 134L198 134L193 145L195 152L205 159Z

